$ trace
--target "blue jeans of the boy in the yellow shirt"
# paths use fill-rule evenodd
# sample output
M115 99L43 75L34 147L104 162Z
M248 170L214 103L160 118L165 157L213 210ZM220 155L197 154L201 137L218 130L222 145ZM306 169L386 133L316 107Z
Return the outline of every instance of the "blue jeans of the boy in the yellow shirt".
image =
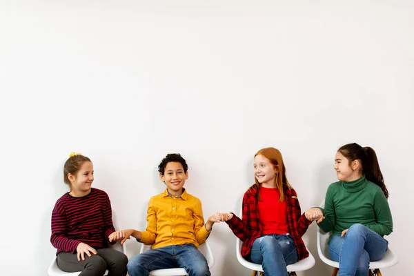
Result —
M184 268L190 276L210 276L206 258L193 244L164 246L132 257L127 266L130 276L148 276L151 270Z

